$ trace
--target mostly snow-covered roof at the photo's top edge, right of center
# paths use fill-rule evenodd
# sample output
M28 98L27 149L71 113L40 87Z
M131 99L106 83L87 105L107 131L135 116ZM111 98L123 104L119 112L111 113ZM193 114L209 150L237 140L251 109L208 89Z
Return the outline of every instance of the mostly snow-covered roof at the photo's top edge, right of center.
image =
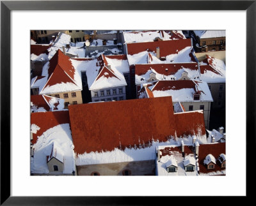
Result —
M148 42L156 38L161 40L186 39L182 31L127 31L123 34L125 43Z

